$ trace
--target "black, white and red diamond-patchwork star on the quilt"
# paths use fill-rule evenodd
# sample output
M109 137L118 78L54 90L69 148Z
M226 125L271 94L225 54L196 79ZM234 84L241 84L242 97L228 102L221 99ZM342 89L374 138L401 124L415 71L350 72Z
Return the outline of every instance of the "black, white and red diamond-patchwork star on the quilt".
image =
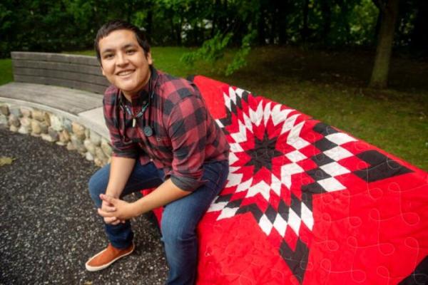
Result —
M343 181L371 182L410 170L375 150L354 155L347 145L355 138L285 105L240 88L223 95L226 118L216 121L230 143L230 174L208 212L217 220L253 214L302 282L314 227L312 195L345 190ZM342 161L350 158L365 167L345 167ZM395 163L393 172L370 167L384 160Z

